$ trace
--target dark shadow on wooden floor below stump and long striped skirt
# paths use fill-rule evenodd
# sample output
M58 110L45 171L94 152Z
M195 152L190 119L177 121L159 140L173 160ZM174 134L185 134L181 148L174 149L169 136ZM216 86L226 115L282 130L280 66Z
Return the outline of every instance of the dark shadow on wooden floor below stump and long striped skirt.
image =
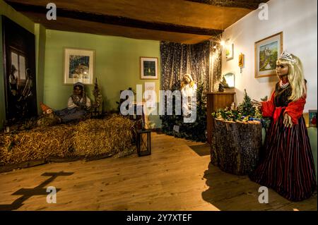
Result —
M210 163L204 171L204 178L208 190L202 193L202 198L221 211L317 211L317 192L302 202L290 202L269 189L269 203L259 203L260 185L250 181L248 176L225 173Z

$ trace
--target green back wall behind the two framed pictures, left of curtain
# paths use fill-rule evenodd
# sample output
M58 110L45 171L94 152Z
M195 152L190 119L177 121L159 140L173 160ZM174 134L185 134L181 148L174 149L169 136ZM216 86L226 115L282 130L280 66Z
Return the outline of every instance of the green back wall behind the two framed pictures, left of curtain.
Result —
M44 102L54 109L67 105L73 86L63 84L64 47L95 50L95 78L98 78L104 109L116 109L119 91L144 82L155 82L157 95L160 88L158 80L140 79L140 56L160 59L160 42L153 40L129 39L102 35L90 35L78 32L46 30ZM160 61L158 62L160 73ZM160 74L159 74L160 77ZM88 97L93 100L93 85L86 86ZM155 127L160 127L159 116L150 116Z

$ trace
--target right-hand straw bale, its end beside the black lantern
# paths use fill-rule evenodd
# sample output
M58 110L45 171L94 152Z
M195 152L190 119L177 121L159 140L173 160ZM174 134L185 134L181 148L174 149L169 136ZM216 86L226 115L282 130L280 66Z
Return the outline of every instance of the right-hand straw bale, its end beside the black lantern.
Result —
M76 125L73 145L76 154L93 157L131 150L135 122L124 116L89 119ZM132 151L131 151L132 152Z

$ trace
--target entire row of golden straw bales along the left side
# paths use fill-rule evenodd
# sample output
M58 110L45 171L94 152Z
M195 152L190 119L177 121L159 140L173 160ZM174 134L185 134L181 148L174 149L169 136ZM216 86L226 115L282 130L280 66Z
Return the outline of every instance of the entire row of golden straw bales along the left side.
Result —
M134 121L114 115L89 119L76 125L33 128L18 133L0 133L0 165L36 159L69 159L115 155L123 157L136 150L131 140Z

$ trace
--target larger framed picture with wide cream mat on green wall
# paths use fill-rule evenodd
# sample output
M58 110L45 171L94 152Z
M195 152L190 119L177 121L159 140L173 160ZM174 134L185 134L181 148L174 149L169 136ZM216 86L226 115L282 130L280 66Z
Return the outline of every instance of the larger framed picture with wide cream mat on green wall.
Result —
M64 48L64 84L93 85L95 51Z

